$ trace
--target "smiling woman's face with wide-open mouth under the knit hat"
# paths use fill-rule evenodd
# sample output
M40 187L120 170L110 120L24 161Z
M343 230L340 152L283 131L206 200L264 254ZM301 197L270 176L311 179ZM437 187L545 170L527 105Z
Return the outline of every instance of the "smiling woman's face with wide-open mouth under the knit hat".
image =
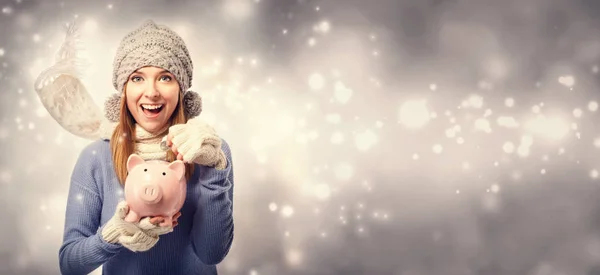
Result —
M133 72L125 84L127 108L146 131L163 128L179 101L175 76L158 67L143 67Z

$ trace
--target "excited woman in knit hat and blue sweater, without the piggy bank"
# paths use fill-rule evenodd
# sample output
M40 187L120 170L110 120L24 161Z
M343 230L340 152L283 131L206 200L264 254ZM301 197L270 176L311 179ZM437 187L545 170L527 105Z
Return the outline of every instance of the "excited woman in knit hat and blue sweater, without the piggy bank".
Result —
M118 96L106 103L112 136L81 152L72 173L62 274L216 274L233 241L233 168L228 144L196 116L192 61L175 32L152 21L129 33L114 59ZM167 138L166 145L161 140ZM166 150L165 150L166 149ZM163 217L124 220L127 158L186 163L186 200L172 227Z

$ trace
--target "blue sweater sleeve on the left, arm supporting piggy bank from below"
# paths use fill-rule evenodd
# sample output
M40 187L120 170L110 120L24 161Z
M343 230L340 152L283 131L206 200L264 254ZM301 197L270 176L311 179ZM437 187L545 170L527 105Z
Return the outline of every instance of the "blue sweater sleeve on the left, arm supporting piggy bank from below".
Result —
M117 255L123 247L102 238L102 198L96 181L101 173L92 146L80 154L71 175L63 244L59 251L62 274L88 274Z

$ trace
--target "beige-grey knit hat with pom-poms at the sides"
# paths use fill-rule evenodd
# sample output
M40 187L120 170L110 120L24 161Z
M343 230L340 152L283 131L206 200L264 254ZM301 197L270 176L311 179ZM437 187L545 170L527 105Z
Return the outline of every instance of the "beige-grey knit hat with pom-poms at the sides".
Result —
M200 114L202 99L197 93L188 91L192 85L194 66L185 42L168 27L148 20L127 34L117 49L113 62L113 86L118 93L108 98L104 104L108 120L119 121L123 87L134 71L146 66L160 67L175 75L184 95L188 118Z

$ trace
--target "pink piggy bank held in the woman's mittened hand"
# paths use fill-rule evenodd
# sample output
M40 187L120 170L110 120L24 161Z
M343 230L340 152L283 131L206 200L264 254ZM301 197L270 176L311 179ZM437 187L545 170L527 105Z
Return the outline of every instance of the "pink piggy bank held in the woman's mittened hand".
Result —
M162 216L161 226L172 226L172 217L183 206L186 193L185 165L160 160L145 161L137 154L127 159L125 201L129 213L125 221L138 222L142 217Z

